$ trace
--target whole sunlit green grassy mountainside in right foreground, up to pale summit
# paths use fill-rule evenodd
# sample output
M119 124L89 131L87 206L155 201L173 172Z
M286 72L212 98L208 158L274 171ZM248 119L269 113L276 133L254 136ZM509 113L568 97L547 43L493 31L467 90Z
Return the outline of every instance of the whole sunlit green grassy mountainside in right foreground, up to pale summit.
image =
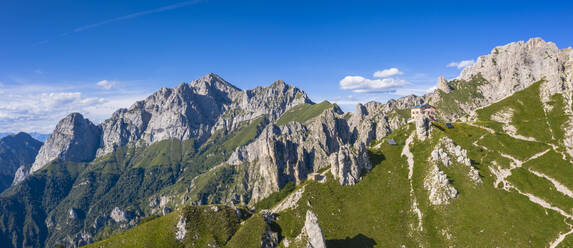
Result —
M567 213L573 213L573 199L557 190L550 180L531 171L543 173L572 189L573 167L569 156L564 155L560 148L564 118L554 112L562 109L562 98L553 96L550 103L553 109L546 112L539 98L542 83L537 82L479 110L479 120L473 125L454 123L454 128L448 129L434 123L431 138L415 141L410 146L414 154L411 180L408 179L406 158L401 152L405 140L414 132L412 124L388 137L396 140L396 146L383 141L374 142L382 142L379 149L371 148L369 151L374 168L358 184L341 186L330 174L327 174L325 183L304 182L305 192L298 206L278 213L276 223L281 245L284 246L287 239L293 243L304 225L306 211L311 209L318 216L328 247L548 246L559 234L571 230L573 220L543 207L525 194ZM492 119L493 115L508 108L514 113L510 124L516 127L516 134L533 137L536 141L508 135L503 130L503 123ZM304 122L304 119L296 121ZM495 132L490 133L486 128L474 125L492 128ZM431 151L442 137L452 139L467 150L482 183L470 180L469 168L465 165L454 162L445 167L439 164L440 170L458 191L458 196L448 205L436 206L429 201L424 180L433 166L429 160ZM516 164L508 156L520 162ZM229 168L222 166L211 171L220 174L208 177L204 184L218 187L213 179L222 178L221 175ZM501 183L496 185L498 177L492 171L498 168L511 169L511 174L505 178L511 185L507 190ZM202 182L198 180L197 183ZM261 201L258 207L271 208L294 189L288 187L277 192ZM422 213L423 230L417 228L417 215L412 211L414 199ZM267 226L260 214L255 214L241 224L227 246L257 247L265 228ZM570 235L560 247L571 244L573 237Z

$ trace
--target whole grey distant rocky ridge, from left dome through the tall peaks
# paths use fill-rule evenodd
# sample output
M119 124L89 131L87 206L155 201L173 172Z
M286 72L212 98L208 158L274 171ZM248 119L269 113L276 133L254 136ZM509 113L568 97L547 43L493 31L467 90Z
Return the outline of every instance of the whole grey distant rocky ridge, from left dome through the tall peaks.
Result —
M313 104L304 91L278 80L267 87L243 91L214 73L161 88L129 109L115 111L95 127L79 113L64 118L38 154L31 172L53 159L89 161L117 147L143 141L152 144L166 139L194 138L199 144L218 129L232 131L240 123L266 115L271 121L302 103ZM88 124L89 123L89 124ZM94 127L92 127L94 126ZM78 136L88 136L82 140ZM85 143L89 142L89 143ZM70 153L76 145L88 151Z

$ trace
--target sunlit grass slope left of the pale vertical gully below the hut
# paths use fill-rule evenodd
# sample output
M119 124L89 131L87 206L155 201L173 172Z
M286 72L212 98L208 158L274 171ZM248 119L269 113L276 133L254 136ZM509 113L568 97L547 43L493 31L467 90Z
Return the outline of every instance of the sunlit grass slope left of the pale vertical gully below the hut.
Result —
M341 186L330 174L324 184L309 181L298 208L280 213L277 223L283 236L292 241L299 234L310 208L328 247L416 246L407 232L413 216L405 208L410 205L409 186L400 156L407 136L397 132L391 137L400 146L384 144L372 150L376 167L357 185Z

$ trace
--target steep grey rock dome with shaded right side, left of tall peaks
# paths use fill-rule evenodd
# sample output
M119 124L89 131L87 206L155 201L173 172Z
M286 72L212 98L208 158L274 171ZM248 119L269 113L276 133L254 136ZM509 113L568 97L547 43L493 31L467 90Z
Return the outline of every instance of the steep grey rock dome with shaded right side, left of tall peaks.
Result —
M94 159L101 130L79 113L62 119L36 156L31 173L54 159L84 162Z

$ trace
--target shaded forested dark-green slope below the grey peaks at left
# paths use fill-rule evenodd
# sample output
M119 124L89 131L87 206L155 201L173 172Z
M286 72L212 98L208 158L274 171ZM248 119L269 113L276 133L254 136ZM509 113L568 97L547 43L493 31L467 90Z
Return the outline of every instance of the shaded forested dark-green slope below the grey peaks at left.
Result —
M2 194L0 241L55 246L84 229L100 240L125 229L124 223L104 218L115 207L133 218L153 214L150 201L164 195L217 202L220 198L203 197L212 193L210 188L188 192L191 181L253 140L265 122L261 116L233 132L218 132L202 144L193 139L164 140L120 147L90 163L56 161ZM175 208L182 199L173 199L167 207ZM78 218L70 219L70 210ZM48 222L57 229L46 228Z

